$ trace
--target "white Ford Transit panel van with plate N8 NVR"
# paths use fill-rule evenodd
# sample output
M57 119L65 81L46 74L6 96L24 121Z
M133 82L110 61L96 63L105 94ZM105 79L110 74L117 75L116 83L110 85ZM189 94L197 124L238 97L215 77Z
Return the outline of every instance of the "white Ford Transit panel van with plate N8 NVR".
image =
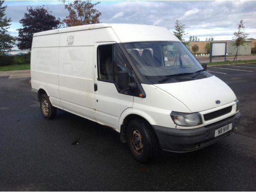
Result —
M107 125L146 162L158 149L194 151L236 130L239 102L160 26L99 23L35 33L32 93L46 119L57 109Z

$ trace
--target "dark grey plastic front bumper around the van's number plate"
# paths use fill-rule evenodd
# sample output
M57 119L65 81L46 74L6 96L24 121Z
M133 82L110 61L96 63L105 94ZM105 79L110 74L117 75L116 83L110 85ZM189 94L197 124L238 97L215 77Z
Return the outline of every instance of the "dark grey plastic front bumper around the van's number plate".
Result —
M229 136L233 131L236 131L236 126L239 124L241 113L223 119L219 122L206 125L195 129L175 129L166 128L157 125L152 125L160 146L165 151L173 152L189 152L211 145L224 137ZM218 137L214 137L215 129L220 128L232 122L232 130Z

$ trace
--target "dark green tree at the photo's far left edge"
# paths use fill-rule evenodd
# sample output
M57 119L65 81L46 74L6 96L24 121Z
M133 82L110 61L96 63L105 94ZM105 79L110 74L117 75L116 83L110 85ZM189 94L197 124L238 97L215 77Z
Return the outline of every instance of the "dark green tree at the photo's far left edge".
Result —
M7 6L3 6L3 2L0 1L0 52L11 49L15 44L15 38L7 33L12 20L5 17Z

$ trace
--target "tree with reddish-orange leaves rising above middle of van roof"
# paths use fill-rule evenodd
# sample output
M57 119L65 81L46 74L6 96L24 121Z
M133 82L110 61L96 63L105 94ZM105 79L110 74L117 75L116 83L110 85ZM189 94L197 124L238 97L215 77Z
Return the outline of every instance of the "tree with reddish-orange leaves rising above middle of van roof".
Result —
M67 4L66 1L62 2L64 3L65 9L69 12L69 15L63 20L67 26L99 23L99 16L101 15L101 12L94 7L100 2L91 3L91 1L78 0Z

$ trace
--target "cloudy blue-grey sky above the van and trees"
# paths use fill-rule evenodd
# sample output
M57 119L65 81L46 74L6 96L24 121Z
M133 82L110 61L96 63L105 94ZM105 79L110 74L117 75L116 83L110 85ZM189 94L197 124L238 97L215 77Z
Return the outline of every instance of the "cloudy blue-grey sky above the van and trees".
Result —
M68 15L60 1L5 1L6 16L12 18L9 33L17 35L19 20L26 6L48 6L56 17ZM186 24L190 35L200 41L213 37L214 40L231 40L241 19L245 32L256 38L256 1L101 1L96 8L102 12L103 23L143 23L174 29L175 20Z

